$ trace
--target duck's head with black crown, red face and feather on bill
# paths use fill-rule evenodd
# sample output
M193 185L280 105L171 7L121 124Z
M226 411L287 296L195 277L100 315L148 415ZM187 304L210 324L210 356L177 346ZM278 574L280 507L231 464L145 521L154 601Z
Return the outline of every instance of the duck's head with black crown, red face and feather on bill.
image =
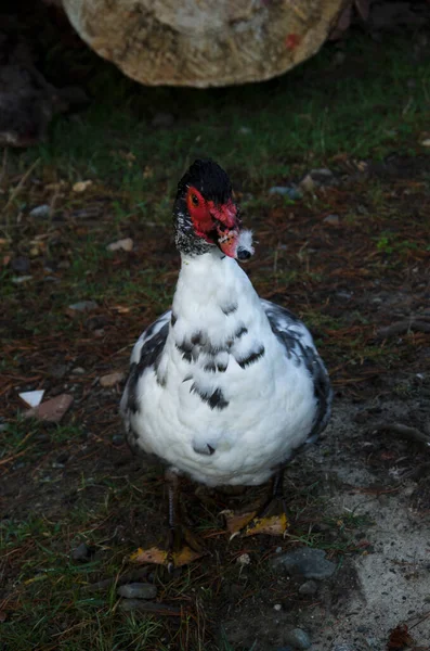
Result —
M195 161L182 177L173 216L177 247L184 254L201 255L214 247L238 260L253 254L252 234L242 228L230 178L213 161Z

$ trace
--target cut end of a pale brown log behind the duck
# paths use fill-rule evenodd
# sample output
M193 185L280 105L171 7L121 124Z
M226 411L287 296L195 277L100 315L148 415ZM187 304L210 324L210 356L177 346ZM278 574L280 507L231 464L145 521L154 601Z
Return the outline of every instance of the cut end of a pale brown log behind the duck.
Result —
M149 86L281 75L318 51L351 0L63 0L101 56Z

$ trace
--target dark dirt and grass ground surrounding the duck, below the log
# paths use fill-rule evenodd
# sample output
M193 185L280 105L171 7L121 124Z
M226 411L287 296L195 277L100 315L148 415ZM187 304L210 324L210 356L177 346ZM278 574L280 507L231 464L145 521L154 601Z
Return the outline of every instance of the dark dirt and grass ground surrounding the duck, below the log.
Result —
M312 651L430 649L430 68L418 36L412 50L411 35L357 34L282 79L208 92L142 89L79 50L71 69L91 106L58 118L48 142L4 150L2 651L275 651L294 628ZM171 201L197 155L231 174L258 240L246 270L310 326L335 401L287 471L288 535L230 542L220 511L264 488L186 483L210 554L169 575L129 561L162 540L164 483L125 444L123 381L100 379L127 371L169 306ZM333 174L295 199L271 192L322 167ZM125 238L131 251L106 248ZM95 305L70 309L82 301ZM24 418L18 393L38 388L73 395L60 424ZM336 563L311 596L272 565L298 547ZM157 586L153 612L125 611L116 584L132 578Z

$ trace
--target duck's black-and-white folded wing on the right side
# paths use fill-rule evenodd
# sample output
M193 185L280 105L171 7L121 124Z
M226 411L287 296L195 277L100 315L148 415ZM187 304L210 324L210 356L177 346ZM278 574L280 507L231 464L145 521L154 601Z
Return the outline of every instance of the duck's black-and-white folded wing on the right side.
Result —
M326 427L331 412L333 391L327 370L321 359L308 328L289 309L270 301L261 301L272 332L286 350L289 359L303 365L314 386L317 409L307 443L312 443Z

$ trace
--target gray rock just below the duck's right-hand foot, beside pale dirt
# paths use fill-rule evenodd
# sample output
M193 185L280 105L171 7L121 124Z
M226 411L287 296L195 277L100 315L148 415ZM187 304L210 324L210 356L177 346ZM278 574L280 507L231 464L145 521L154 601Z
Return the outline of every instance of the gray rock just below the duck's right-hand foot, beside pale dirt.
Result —
M302 547L288 551L272 559L272 566L283 567L288 574L304 576L304 578L328 578L335 573L336 563L327 561L322 549Z

